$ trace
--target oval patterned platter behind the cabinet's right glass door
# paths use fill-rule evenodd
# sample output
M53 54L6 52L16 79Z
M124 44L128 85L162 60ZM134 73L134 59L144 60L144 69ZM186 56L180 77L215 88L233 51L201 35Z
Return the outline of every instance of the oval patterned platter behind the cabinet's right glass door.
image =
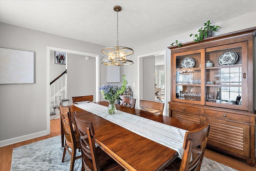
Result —
M236 63L237 59L238 55L236 54L236 52L225 52L218 58L218 64L220 66L233 65L234 63Z

